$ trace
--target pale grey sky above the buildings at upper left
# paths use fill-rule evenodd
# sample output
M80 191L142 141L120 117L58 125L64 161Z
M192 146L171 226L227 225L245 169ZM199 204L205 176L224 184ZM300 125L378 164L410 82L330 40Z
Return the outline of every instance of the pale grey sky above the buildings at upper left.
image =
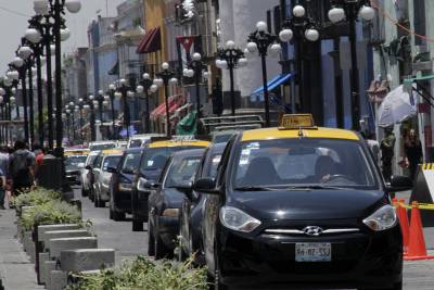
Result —
M102 16L115 16L116 7L124 0L81 0L81 11L77 14L66 13L66 26L72 36L63 42L62 52L87 47L87 27ZM35 14L33 0L0 0L0 76L4 74L17 49L21 37L28 26L27 20ZM98 12L100 11L100 12Z

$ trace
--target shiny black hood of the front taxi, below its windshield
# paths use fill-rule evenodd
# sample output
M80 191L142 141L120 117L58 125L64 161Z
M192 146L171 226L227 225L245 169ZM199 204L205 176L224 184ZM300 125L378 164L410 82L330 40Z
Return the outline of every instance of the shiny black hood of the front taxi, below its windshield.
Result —
M227 200L228 205L266 219L360 218L386 202L382 191L353 189L235 191Z

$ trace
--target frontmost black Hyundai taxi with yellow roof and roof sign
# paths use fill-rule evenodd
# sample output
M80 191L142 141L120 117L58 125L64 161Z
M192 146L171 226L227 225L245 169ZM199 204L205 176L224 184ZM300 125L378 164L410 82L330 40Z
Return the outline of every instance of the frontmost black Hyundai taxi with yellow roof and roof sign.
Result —
M286 115L279 128L239 133L206 192L209 278L227 286L403 288L403 238L390 192L361 137ZM265 287L264 285L267 285Z

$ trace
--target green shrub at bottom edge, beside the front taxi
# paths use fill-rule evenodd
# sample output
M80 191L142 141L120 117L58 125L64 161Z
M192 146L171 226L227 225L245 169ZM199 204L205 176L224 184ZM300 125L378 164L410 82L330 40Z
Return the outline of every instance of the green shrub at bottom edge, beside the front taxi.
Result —
M154 263L139 256L118 269L102 269L98 275L73 275L79 280L67 290L205 290L206 269L170 261Z

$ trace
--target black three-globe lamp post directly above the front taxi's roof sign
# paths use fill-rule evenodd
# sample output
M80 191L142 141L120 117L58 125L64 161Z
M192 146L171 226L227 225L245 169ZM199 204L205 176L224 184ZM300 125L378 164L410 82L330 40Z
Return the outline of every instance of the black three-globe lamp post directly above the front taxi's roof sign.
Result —
M296 61L296 80L298 84L299 100L302 101L302 108L305 98L305 86L303 79L303 41L317 41L319 39L318 24L306 14L305 8L302 5L295 5L292 12L292 16L286 18L282 24L282 30L279 33L279 38L282 42L291 41L295 38L294 42L294 59ZM291 109L293 113L296 113L295 106L295 94L291 94ZM310 108L309 108L310 109Z

